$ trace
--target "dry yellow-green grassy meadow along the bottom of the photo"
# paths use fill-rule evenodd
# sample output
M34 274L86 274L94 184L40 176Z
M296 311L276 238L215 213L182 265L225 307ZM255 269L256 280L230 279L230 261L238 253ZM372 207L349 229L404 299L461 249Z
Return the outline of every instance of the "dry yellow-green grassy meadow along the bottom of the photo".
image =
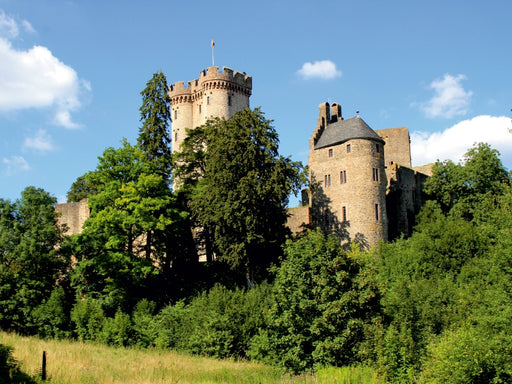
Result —
M12 346L21 369L32 376L40 372L42 354L46 351L48 382L52 384L381 383L369 368L326 368L315 375L291 376L259 363L189 356L169 350L41 340L5 332L0 332L0 344Z

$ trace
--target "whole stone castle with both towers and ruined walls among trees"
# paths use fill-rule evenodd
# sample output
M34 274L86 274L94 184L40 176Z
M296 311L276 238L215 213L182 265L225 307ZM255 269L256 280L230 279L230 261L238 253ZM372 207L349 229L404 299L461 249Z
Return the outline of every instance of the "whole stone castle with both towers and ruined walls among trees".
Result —
M224 67L209 67L198 79L169 87L172 150L186 129L208 119L229 119L249 108L252 78ZM380 240L409 235L422 204L422 183L429 167L411 168L406 127L373 130L359 116L344 119L341 106L323 103L309 140L310 188L301 207L289 210L288 227L320 227L341 241L368 247ZM58 204L61 223L79 233L88 217L86 202Z

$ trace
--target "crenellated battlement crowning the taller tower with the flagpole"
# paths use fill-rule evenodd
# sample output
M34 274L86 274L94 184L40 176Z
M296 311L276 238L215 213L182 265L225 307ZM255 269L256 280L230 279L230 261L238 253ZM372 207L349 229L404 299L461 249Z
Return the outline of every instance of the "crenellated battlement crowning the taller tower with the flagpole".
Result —
M193 97L205 89L212 88L229 89L250 96L252 92L252 77L244 72L233 71L228 67L223 67L222 72L219 72L219 67L208 67L200 72L198 79L189 81L187 86L185 86L183 81L172 84L169 87L169 96L171 102L190 101L187 96Z

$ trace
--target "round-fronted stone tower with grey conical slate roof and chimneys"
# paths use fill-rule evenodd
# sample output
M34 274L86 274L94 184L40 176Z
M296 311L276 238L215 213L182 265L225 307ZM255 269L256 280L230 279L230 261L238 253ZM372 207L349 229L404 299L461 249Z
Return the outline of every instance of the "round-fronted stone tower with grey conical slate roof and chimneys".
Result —
M341 106L320 104L309 141L313 226L366 246L388 238L385 141Z

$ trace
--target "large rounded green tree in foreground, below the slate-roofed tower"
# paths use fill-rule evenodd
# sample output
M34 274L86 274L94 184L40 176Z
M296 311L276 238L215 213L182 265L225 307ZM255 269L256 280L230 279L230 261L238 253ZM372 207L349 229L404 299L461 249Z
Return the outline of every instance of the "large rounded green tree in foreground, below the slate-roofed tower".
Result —
M378 316L364 259L320 230L289 240L275 270L268 330L253 340L250 355L294 372L357 362L365 328Z

